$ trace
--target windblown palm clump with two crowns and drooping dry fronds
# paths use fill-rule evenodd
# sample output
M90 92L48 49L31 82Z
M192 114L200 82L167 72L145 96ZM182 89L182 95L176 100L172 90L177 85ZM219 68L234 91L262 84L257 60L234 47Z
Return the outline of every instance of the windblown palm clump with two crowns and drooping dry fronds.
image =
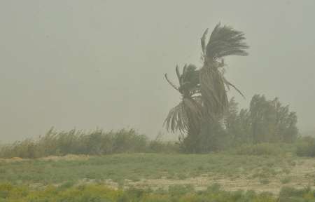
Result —
M179 130L186 137L199 135L202 124L220 119L228 108L227 90L232 86L242 96L239 89L224 76L224 57L228 55L247 55L244 33L232 27L216 25L206 45L208 29L201 38L203 66L185 65L183 73L176 74L179 87L167 78L168 83L181 93L182 100L169 111L165 123L167 130ZM190 138L191 139L191 138Z

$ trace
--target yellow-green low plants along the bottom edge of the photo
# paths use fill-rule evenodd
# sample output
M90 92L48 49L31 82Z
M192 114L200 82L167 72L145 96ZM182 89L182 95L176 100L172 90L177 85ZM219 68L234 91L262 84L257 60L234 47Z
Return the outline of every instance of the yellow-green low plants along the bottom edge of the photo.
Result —
M11 184L0 184L0 201L15 202L103 202L103 201L224 201L224 202L276 202L276 201L314 201L315 191L311 189L284 188L280 196L273 196L268 193L257 194L254 191L223 191L214 185L205 191L195 192L190 187L176 185L169 188L169 191L152 191L149 189L127 189L114 190L104 184L87 184L71 186L64 184L59 187L49 186L45 189L29 189L26 186L13 186Z

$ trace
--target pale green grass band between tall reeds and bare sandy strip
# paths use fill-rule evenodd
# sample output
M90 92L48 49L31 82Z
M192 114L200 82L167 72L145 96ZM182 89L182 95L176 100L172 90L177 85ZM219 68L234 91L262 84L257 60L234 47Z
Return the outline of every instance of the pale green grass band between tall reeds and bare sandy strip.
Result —
M274 170L285 175L296 157L240 156L231 154L112 154L64 156L59 159L0 161L0 182L63 183L86 180L186 179L207 174L213 177L255 175L270 177Z

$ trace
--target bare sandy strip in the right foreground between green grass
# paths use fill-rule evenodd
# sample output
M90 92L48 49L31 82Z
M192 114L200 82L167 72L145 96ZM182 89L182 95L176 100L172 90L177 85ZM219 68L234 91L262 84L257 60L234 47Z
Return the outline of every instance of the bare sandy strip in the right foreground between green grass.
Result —
M281 182L283 177L290 177L290 182L283 184ZM268 180L269 182L262 183L257 178L248 179L248 175L240 175L237 178L229 179L223 176L208 174L183 180L167 179L166 177L155 180L141 179L137 182L125 180L124 187L150 187L151 189L167 189L169 186L176 184L190 184L195 187L196 190L204 190L212 184L220 184L221 188L226 191L253 190L257 192L268 191L273 194L279 194L279 191L283 186L295 188L304 188L310 186L311 188L315 189L315 159L300 160L298 165L295 166L288 175L275 175L274 177L269 177ZM116 189L118 188L118 184L112 182L111 180L108 180L107 184Z

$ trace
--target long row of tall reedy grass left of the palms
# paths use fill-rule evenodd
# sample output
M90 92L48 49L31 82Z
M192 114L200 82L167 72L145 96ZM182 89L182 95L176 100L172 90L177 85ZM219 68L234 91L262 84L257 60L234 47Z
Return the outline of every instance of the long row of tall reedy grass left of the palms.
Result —
M48 130L37 140L26 139L0 148L0 158L28 158L64 156L66 154L103 155L130 152L176 152L176 144L162 140L148 140L135 130L122 129L104 132L83 130L56 132Z

